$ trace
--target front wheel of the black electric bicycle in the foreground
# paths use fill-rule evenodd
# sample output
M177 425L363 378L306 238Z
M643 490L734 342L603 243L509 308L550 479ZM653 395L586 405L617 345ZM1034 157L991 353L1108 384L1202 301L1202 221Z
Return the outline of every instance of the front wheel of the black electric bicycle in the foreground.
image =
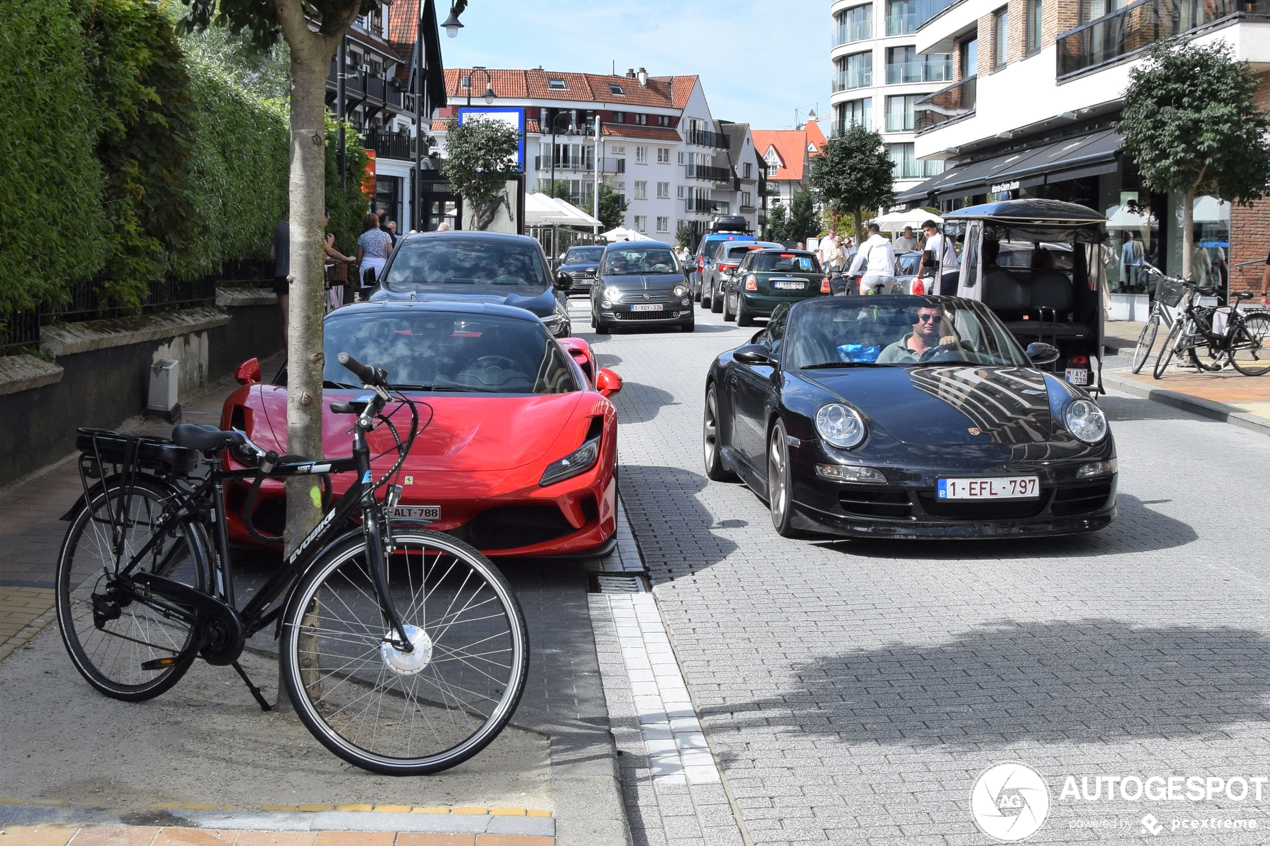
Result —
M525 615L485 556L438 531L399 528L385 562L414 647L380 609L356 535L301 578L283 618L296 713L331 752L372 772L422 775L466 761L511 719L528 674Z

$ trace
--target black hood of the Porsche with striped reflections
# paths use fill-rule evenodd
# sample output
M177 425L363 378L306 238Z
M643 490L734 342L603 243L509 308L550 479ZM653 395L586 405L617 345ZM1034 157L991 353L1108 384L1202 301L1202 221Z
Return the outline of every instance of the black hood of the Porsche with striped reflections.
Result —
M1035 444L1053 429L1045 377L1031 368L944 364L803 375L909 444Z

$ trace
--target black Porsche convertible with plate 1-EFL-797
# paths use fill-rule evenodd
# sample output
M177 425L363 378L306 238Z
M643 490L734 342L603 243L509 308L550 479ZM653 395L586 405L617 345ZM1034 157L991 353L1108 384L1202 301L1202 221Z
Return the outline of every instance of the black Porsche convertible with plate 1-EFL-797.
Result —
M1106 416L982 303L832 297L779 309L706 379L706 474L786 537L1011 538L1115 519Z

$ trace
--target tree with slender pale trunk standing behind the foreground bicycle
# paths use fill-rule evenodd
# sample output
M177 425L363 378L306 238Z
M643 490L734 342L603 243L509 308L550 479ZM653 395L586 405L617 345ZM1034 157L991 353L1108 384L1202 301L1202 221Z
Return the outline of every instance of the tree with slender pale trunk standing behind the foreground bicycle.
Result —
M290 336L287 339L287 450L323 457L323 212L326 204L326 75L348 28L375 0L183 0L185 25L218 23L246 33L262 49L287 41L291 52L291 225ZM466 5L466 0L457 0ZM310 29L310 24L314 29ZM287 548L300 543L321 517L312 479L287 481Z

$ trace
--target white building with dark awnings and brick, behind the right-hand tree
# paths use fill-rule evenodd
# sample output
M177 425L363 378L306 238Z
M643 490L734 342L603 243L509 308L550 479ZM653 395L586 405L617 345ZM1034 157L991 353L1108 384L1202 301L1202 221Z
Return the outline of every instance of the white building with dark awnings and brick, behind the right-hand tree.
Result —
M898 202L941 209L1019 197L1081 203L1110 218L1113 292L1146 292L1123 261L1129 232L1148 261L1180 273L1181 198L1142 185L1114 129L1129 72L1146 48L1173 36L1231 43L1261 74L1260 99L1270 105L1266 0L956 0L916 33L918 51L955 57L954 81L914 109L917 159L942 162L944 171L898 193ZM1260 280L1260 266L1237 265L1270 252L1270 203L1232 208L1201 197L1193 211L1196 277L1236 288Z

